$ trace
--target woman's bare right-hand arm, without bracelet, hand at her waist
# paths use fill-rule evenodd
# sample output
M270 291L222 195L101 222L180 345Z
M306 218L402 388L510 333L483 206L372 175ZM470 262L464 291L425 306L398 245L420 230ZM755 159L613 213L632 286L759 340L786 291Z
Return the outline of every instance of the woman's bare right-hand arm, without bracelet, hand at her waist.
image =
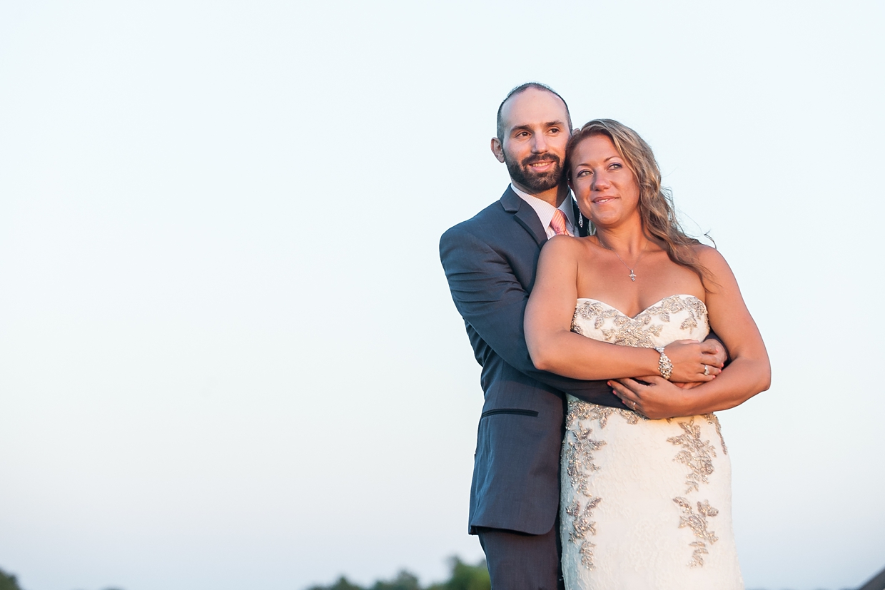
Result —
M743 303L735 275L720 253L697 247L701 264L712 280L707 283L707 312L710 326L731 355L731 364L720 375L692 389L680 389L658 377L612 381L610 385L629 407L649 418L695 416L727 410L765 391L771 384L771 364L762 335ZM653 374L653 373L650 373Z

